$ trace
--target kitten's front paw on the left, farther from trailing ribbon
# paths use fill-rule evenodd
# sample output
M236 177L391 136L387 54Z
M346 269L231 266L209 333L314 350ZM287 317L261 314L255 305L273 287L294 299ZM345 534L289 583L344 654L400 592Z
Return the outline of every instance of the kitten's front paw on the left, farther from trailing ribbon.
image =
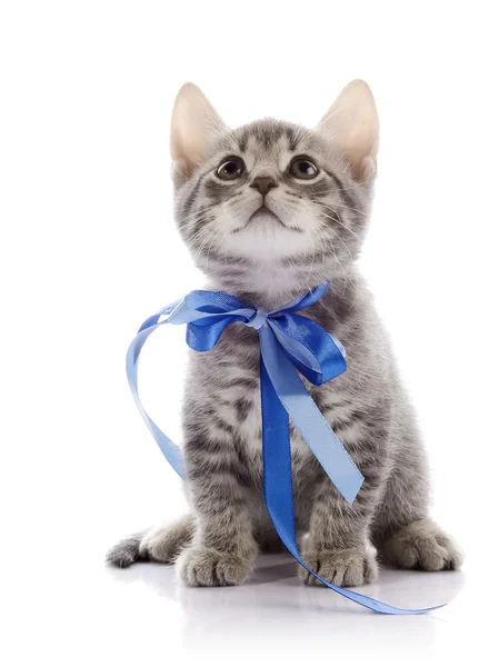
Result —
M252 560L238 554L193 546L182 551L177 568L188 586L237 586L251 573Z

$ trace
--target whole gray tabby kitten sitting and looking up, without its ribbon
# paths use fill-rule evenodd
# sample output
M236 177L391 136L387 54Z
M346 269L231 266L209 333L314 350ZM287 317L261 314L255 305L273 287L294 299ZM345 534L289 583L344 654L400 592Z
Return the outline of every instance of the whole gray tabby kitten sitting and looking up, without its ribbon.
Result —
M291 425L297 534L303 560L338 586L405 568L453 569L462 556L428 517L428 470L389 339L356 268L378 149L368 86L353 81L312 130L265 119L229 130L196 86L177 98L171 156L176 216L208 289L277 308L328 279L303 311L347 348L348 370L306 382L366 478L350 507ZM241 584L258 551L282 545L262 497L259 341L230 325L190 352L183 401L191 514L117 545L108 560L177 561L191 586ZM317 585L303 568L300 577Z

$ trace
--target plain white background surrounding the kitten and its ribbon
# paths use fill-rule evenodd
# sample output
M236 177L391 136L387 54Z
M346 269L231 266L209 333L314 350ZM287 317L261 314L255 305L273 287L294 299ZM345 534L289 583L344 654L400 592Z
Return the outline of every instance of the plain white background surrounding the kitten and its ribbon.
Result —
M3 664L480 658L497 589L495 3L0 7ZM418 407L433 516L468 555L462 575L386 573L367 591L452 601L379 617L300 588L286 559L223 590L108 570L116 539L183 509L123 369L141 321L202 283L172 221L174 96L193 80L232 126L310 126L353 78L382 132L363 271ZM172 435L183 347L167 331L143 356L144 401Z

